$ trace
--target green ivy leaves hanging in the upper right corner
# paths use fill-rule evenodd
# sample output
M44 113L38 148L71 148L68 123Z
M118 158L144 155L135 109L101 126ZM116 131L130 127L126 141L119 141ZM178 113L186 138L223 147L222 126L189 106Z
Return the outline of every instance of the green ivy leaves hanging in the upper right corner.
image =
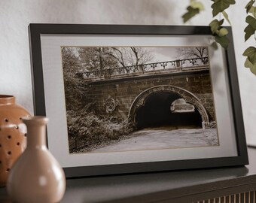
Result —
M235 0L211 0L212 1L212 17L219 15L219 20L214 19L209 26L211 27L212 35L215 37L215 42L212 44L213 47L217 47L216 43L221 44L224 49L227 49L229 40L227 38L228 31L222 25L224 20L227 20L227 23L230 23L229 17L226 13L227 8L230 5L235 5ZM200 11L204 10L203 3L199 0L190 0L190 5L187 7L187 12L182 16L183 22L186 23L188 20L200 14ZM245 10L248 16L245 19L245 22L248 25L245 27L245 41L251 36L254 36L256 41L256 2L255 0L250 0L245 6ZM222 18L222 19L221 19ZM245 67L250 68L253 74L256 74L256 47L248 47L243 56L246 56Z

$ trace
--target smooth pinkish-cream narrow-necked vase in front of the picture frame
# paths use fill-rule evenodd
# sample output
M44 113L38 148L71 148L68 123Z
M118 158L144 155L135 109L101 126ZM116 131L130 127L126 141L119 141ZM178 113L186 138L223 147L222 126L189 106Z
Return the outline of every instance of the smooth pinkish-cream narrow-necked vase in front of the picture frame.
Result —
M14 202L58 202L66 189L65 174L47 150L46 117L23 119L27 147L11 168L7 189Z

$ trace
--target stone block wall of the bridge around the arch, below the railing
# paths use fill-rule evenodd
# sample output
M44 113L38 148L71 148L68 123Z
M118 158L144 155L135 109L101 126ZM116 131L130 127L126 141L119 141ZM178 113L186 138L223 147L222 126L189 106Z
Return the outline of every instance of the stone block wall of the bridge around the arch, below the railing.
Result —
M206 108L209 120L215 120L209 71L92 82L90 83L87 102L95 103L96 114L126 119L135 98L145 89L160 85L177 86L196 95ZM105 102L108 98L113 98L117 104L117 107L112 112L108 112L105 108Z

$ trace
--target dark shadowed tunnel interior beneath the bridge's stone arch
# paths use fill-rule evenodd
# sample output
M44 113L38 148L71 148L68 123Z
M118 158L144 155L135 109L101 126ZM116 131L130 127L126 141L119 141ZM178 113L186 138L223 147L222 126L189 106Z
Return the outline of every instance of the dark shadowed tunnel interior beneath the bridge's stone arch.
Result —
M148 96L145 105L136 112L138 129L171 127L172 129L202 128L202 118L197 108L193 112L171 111L171 105L181 100L174 92L156 92ZM177 100L178 99L178 100ZM182 99L184 101L184 99ZM173 105L172 105L173 106Z

